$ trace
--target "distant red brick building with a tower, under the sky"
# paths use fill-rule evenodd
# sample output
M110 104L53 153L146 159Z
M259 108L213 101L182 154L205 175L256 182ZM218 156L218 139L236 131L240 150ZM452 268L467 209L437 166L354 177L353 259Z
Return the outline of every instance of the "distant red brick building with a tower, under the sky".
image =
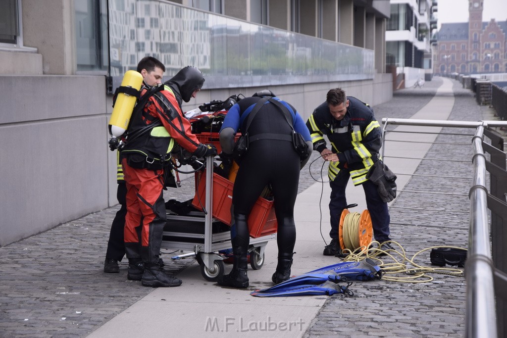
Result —
M507 72L507 21L482 21L483 0L468 0L468 22L443 23L437 32L434 72Z

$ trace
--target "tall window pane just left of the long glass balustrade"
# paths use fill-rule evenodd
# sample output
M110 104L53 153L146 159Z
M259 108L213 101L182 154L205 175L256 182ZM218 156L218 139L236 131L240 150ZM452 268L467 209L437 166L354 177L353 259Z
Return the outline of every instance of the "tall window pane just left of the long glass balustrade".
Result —
M107 71L107 1L74 2L78 71Z

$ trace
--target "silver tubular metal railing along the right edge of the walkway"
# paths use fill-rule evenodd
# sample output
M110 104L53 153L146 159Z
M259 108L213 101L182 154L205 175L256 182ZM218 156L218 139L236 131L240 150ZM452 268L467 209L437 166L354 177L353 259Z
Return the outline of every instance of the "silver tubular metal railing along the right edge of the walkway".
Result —
M473 184L469 190L468 255L465 264L467 337L507 336L507 171L502 121L382 119L388 125L476 128L472 137ZM487 136L491 143L484 141ZM486 153L490 155L488 161ZM487 176L489 173L489 177ZM487 187L489 178L490 186ZM490 218L488 218L490 210Z

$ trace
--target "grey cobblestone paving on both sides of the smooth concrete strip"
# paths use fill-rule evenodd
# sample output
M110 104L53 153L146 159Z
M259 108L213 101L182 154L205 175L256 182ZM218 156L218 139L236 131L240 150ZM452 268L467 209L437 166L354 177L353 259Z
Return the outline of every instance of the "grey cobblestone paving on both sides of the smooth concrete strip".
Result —
M435 78L420 89L397 91L393 99L375 106L376 117L409 118L432 98L441 84ZM481 120L481 109L469 90L454 89L459 97L452 120ZM468 131L469 133L469 131ZM451 144L457 139L468 146ZM471 177L470 138L442 135L427 154L428 158L450 156L466 162L452 162L450 169L428 161L417 173L452 174ZM313 161L317 158L312 155ZM322 162L302 171L299 192L319 177ZM324 168L324 177L325 177ZM444 188L446 186L446 188ZM467 194L470 180L413 177L407 190L442 191ZM184 201L193 196L193 179L183 187L170 189L164 198ZM432 201L432 202L431 202ZM467 210L468 198L447 196L415 197L401 193L390 209L392 238L413 255L433 245L466 246L467 213L412 211L404 206L443 207ZM111 222L118 207L91 213L61 224L44 233L0 248L0 337L83 337L152 291L126 279L127 263L119 274L104 274L103 260ZM34 220L37 221L37 220ZM191 259L170 261L167 269L176 273L192 264ZM427 257L420 257L429 264ZM431 283L355 283L355 296L329 297L306 336L462 336L464 332L463 278L434 276Z

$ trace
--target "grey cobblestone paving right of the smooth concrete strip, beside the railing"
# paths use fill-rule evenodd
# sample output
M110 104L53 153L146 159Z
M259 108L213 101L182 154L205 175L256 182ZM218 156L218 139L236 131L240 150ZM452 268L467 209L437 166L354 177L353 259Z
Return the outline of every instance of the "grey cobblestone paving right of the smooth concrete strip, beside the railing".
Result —
M421 90L396 91L391 101L375 107L377 119L409 118L431 99L441 81L435 78L426 82ZM490 108L477 105L473 92L462 89L459 82L453 82L456 99L449 120L482 120L483 112ZM403 246L408 258L432 246L467 247L468 191L472 186L474 132L475 129L469 128L443 128L426 154L426 160L421 162L416 175L404 188L404 191L462 196L401 192L391 205L391 239ZM430 160L443 158L449 161ZM391 170L396 172L395 168ZM448 211L436 211L443 209ZM392 260L386 258L384 262L390 263ZM429 251L418 255L415 262L431 267ZM356 282L351 286L354 296L339 294L328 299L305 336L464 336L465 279L428 275L433 277L433 281Z

